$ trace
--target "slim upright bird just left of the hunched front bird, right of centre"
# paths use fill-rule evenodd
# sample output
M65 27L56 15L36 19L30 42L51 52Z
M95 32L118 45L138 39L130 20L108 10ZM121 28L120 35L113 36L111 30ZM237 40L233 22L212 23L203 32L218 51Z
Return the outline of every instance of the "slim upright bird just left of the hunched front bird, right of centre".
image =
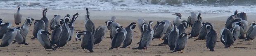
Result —
M175 47L175 43L177 38L179 37L179 29L177 28L177 26L174 24L173 25L173 29L171 30L171 32L168 35L168 46L170 47L170 50L174 50Z

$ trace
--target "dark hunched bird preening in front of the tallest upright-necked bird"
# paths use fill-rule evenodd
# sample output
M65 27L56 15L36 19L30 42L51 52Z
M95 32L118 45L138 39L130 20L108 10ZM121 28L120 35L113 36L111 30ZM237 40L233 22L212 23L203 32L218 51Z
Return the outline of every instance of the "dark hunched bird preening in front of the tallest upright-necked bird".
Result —
M85 34L83 36L83 41L81 43L82 49L87 49L90 52L93 52L93 45L94 45L94 38L92 36L92 32L85 31Z

